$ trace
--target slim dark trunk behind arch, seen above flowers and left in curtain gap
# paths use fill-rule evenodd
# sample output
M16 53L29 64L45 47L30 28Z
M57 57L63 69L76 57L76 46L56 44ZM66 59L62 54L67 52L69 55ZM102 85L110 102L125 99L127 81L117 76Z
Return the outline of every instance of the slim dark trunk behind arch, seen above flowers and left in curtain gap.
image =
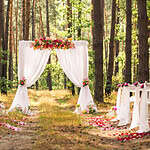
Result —
M46 28L47 28L47 36L50 37L50 28L49 28L49 3L46 0ZM48 64L51 64L51 56L49 56ZM47 86L49 90L52 90L52 78L51 78L51 70L48 70L47 75Z

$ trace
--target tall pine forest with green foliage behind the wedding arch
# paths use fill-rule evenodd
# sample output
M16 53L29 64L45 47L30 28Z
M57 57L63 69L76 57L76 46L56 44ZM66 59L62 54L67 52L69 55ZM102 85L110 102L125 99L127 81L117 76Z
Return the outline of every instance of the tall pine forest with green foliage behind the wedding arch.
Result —
M1 0L2 94L17 87L19 41L43 36L89 42L89 86L97 101L118 83L149 80L148 0ZM67 88L73 95L80 90L63 73L55 51L31 88Z

